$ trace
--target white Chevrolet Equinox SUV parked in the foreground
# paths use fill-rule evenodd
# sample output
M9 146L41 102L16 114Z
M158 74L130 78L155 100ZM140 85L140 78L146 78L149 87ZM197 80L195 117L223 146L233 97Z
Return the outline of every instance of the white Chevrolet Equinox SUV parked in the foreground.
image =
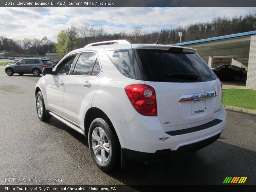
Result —
M203 148L226 123L220 80L195 49L100 42L43 73L35 89L39 119L53 116L88 136L103 171Z

